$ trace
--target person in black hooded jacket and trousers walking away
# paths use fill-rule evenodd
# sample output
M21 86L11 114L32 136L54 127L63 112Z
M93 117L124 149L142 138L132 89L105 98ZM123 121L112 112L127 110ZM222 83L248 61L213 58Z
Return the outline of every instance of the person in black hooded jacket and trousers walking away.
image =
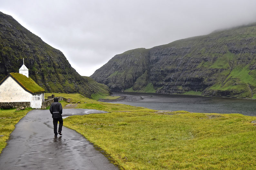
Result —
M62 119L62 105L61 103L58 101L59 98L55 97L54 98L54 103L51 104L50 106L50 112L52 114L52 118L53 118L53 127L54 127L54 136L57 137L58 133L60 135L62 135L61 131L62 131L62 126L63 126L63 119ZM58 121L59 121L59 130L57 133L57 125L58 125Z

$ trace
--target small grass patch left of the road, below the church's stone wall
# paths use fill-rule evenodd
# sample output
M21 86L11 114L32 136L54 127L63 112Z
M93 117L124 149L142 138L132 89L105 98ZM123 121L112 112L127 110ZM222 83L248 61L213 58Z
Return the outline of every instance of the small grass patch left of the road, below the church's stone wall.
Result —
M9 139L10 134L15 129L15 124L23 118L31 108L16 111L16 109L0 110L0 154L7 145L6 140Z

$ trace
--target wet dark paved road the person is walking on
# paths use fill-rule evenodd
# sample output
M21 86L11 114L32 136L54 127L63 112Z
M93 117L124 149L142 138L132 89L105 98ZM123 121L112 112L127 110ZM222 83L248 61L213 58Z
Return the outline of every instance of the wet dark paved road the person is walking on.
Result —
M64 109L63 115L102 113ZM65 123L65 120L64 120ZM49 110L32 110L16 124L0 155L0 169L118 169L81 134L63 127L54 137Z

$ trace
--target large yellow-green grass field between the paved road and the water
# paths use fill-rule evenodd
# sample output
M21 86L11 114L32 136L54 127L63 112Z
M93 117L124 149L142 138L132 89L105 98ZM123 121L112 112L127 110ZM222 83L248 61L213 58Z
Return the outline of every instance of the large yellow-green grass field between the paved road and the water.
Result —
M70 116L64 125L84 135L123 169L254 169L256 117L164 112L97 102L77 108L106 114Z

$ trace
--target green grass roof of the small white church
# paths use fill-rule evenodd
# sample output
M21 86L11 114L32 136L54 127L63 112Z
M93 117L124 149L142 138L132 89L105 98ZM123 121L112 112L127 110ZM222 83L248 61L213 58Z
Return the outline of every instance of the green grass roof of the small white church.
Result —
M25 75L20 73L11 72L11 76L13 76L25 89L32 93L38 93L45 91L42 87L40 87L33 79L30 77L27 78Z

